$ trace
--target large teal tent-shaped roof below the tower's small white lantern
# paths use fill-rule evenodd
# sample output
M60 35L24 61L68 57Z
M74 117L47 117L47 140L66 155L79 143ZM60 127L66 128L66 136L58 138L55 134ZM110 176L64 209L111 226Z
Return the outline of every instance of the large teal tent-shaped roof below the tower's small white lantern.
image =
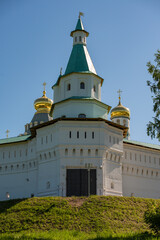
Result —
M72 72L89 72L97 74L88 50L83 44L76 44L72 48L65 75Z

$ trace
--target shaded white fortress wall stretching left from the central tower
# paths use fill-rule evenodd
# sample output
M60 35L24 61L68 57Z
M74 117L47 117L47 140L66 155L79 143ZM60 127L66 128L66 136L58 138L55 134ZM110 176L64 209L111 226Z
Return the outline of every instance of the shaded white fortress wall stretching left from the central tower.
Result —
M0 200L36 195L35 139L0 146Z

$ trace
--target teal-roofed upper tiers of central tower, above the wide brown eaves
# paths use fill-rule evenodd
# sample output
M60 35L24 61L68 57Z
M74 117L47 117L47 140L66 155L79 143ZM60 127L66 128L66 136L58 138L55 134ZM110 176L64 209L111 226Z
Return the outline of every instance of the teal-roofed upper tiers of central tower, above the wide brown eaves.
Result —
M64 75L60 76L54 90L54 104L51 114L53 119L69 118L104 118L110 106L101 102L103 78L97 75L86 47L89 33L84 30L81 16L70 36L73 48Z

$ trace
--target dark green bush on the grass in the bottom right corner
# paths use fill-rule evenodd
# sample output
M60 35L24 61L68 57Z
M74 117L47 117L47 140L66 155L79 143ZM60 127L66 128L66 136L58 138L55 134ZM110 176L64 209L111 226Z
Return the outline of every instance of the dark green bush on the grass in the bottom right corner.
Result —
M150 227L156 232L160 232L160 205L152 205L145 212L145 221L150 225Z

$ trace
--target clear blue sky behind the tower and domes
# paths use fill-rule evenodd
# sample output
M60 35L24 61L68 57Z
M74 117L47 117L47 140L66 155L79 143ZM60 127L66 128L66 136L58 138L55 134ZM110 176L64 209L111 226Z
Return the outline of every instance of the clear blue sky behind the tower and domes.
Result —
M115 107L117 90L131 112L131 139L158 143L146 134L152 99L146 63L160 49L159 0L0 0L0 138L17 136L34 115L34 100L63 72L72 49L70 32L79 11L90 33L87 48L104 78L102 101Z

